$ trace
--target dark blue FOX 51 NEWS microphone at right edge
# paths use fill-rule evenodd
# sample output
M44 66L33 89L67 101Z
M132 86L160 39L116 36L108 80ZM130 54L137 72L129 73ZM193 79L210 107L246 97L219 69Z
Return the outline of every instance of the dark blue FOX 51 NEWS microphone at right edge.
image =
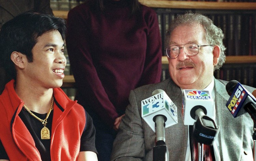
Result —
M256 99L254 97L256 91L254 90L253 94L250 93L236 80L228 82L226 90L230 96L226 106L233 117L238 117L247 112L256 122Z

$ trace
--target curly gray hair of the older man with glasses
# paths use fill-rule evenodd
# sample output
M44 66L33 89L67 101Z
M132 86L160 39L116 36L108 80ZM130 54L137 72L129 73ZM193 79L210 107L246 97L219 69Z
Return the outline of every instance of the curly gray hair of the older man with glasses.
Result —
M171 22L167 34L167 43L170 40L172 31L177 26L198 24L205 30L205 39L207 43L211 45L218 45L221 48L218 63L214 66L214 71L222 67L226 60L225 50L226 47L223 44L224 34L220 28L215 26L212 20L199 13L185 13L184 15L177 15L177 17Z

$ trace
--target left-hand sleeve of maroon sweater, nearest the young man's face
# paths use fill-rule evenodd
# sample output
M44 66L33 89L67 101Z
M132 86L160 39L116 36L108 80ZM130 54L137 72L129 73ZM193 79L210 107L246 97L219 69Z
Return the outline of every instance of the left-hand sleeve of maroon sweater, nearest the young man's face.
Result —
M86 25L87 23L90 23L88 15L80 14L79 10L71 10L69 12L66 43L70 65L78 92L84 99L83 106L93 107L103 121L112 128L118 114L105 92L93 64L88 43L90 41L90 33Z

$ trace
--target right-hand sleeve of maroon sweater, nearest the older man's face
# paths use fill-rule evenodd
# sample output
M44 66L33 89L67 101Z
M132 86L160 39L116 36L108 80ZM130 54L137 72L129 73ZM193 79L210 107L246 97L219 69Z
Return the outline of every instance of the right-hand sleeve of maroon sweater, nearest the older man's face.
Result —
M142 10L148 33L145 64L138 87L160 82L162 70L162 42L157 15L154 10L147 9L146 13Z

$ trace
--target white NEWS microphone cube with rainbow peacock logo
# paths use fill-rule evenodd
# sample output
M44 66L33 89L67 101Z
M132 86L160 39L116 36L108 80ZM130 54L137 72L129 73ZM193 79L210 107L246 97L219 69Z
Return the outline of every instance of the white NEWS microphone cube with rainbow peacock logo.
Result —
M202 109L204 115L211 118L215 116L214 101L209 91L183 90L182 116L184 125L194 125L196 110Z

